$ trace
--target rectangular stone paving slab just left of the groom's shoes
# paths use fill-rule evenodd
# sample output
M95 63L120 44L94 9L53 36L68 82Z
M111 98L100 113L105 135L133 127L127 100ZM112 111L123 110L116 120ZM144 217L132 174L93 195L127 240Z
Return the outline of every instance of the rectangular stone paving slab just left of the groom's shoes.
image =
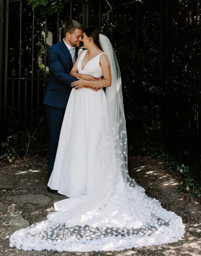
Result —
M19 174L16 189L46 189L48 183L46 172L22 172Z

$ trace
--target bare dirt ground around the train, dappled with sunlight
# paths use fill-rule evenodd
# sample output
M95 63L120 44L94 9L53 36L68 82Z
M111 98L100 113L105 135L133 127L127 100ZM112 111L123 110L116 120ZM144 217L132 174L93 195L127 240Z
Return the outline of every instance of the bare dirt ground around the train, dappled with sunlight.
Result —
M5 237L13 233L10 229L0 230L0 256L195 256L201 255L201 203L191 202L186 194L178 193L179 178L174 172L167 172L163 160L153 159L149 155L130 156L129 173L135 181L145 188L146 194L158 199L168 211L173 211L181 216L186 227L185 237L178 243L162 246L138 247L121 252L91 252L91 253L61 253L53 251L25 252L9 247L9 239ZM2 172L20 173L29 170L46 172L46 156L28 156L25 160L13 164L0 163ZM5 203L8 196L37 194L47 196L49 202L45 205L29 202L26 204ZM53 211L53 202L65 197L46 190L0 190L0 203L4 201L7 210L0 213L0 218L8 219L11 212L21 212L20 216L30 225L42 221L48 212Z

